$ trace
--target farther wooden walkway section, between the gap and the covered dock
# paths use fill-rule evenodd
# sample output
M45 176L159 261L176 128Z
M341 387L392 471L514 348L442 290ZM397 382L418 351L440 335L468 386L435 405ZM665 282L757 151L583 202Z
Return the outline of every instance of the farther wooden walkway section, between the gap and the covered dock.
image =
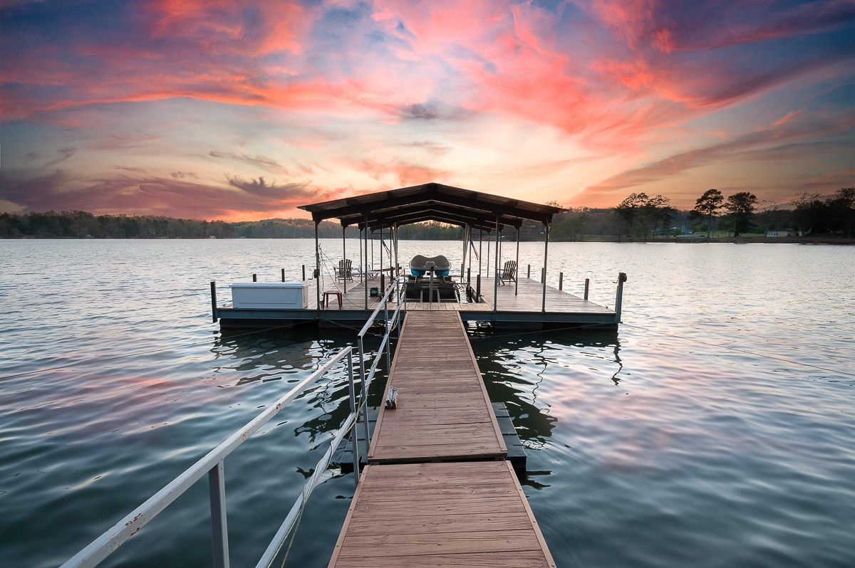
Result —
M391 386L398 388L398 408L380 409L369 463L507 455L457 313L407 313L386 388Z

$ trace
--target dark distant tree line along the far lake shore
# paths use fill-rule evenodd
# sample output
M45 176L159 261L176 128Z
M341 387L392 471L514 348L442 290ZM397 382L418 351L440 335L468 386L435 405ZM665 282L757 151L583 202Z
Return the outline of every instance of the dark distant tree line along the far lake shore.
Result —
M670 205L668 197L632 193L614 208L569 208L557 214L550 230L551 240L581 241L587 237L623 240L656 240L685 232L726 231L729 235L766 231L801 231L805 235L852 237L855 225L855 187L841 188L831 195L799 194L789 207L762 205L749 191L728 197L719 190L706 190L691 210ZM552 202L552 205L558 205ZM523 241L544 237L540 223L526 223L519 231ZM463 230L437 222L400 227L399 237L413 240L457 240ZM504 234L516 238L516 229ZM322 221L322 238L341 238L341 225ZM358 237L356 226L346 237ZM169 217L93 215L85 211L0 214L3 238L314 238L315 222L309 219L260 221L203 221Z

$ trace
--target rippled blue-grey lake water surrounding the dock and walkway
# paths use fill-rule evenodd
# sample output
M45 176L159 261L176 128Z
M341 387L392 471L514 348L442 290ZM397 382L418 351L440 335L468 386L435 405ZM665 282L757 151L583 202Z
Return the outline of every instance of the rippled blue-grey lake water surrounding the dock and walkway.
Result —
M61 564L352 343L349 329L210 321L209 281L227 301L253 272L296 280L313 247L0 241L3 565ZM325 269L340 249L323 242ZM404 264L445 254L459 266L462 244L401 250ZM523 275L540 273L542 250L522 243ZM853 565L855 248L550 243L549 256L551 284L563 272L581 295L591 278L609 307L627 272L620 331L471 341L527 448L523 489L557 565ZM333 374L226 460L233 565L255 565L346 416L346 391ZM103 565L209 565L207 490ZM287 566L327 565L352 495L351 475L327 472Z

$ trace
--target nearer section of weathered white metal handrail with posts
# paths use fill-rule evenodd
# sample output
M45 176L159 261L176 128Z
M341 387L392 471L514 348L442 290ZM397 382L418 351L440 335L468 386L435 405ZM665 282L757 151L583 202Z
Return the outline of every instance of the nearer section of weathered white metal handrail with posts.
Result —
M240 444L255 434L263 425L268 423L270 419L273 419L276 414L280 413L286 404L293 401L298 397L298 395L302 394L306 387L315 383L315 381L332 370L333 366L335 366L340 360L343 360L346 357L348 381L351 391L351 414L347 419L345 419L345 424L337 431L333 442L330 444L330 448L327 449L327 453L324 454L320 461L318 461L318 465L315 466L315 472L312 474L309 481L304 484L298 500L294 503L285 522L280 527L280 530L277 531L276 536L274 536L274 541L270 543L270 546L267 551L265 551L258 564L259 566L268 565L270 560L272 560L273 556L278 551L281 542L285 539L285 536L296 522L296 519L298 518L297 513L304 506L304 503L309 497L312 489L315 488L315 484L320 478L321 472L327 469L335 448L338 448L339 443L342 441L345 434L351 430L354 475L358 483L358 436L356 436L356 429L352 428L357 417L357 413L354 412L356 406L354 399L355 389L353 384L352 351L353 348L351 347L342 349L331 360L328 360L327 363L321 366L321 368L313 372L309 377L304 378L289 390L286 395L280 397L280 399L275 401L273 405L258 414L255 419L252 419L242 429L234 432L231 436L228 436L224 442L221 442L220 445L212 449L201 460L198 460L195 464L187 468L178 477L175 477L172 482L163 487L163 489L158 491L155 495L152 495L147 501L132 512L128 513L125 518L121 519L121 521L114 524L109 530L104 532L103 535L92 541L71 559L68 559L61 568L88 568L98 565L103 561L103 559L106 559L110 554L114 553L124 542L127 542L128 539L136 535L137 532L142 529L145 524L148 524L152 518L155 518L159 512L162 512L163 509L168 507L180 495L184 494L187 489L190 489L192 485L201 479L206 472L208 473L209 478L211 517L214 530L214 565L226 568L229 565L229 558L226 526L226 485L223 460L225 460L227 455L231 454L234 449L238 448ZM362 369L361 364L360 369ZM365 420L365 422L367 423L367 420ZM368 435L367 432L368 429L366 427L366 436ZM278 542L277 539L279 539Z

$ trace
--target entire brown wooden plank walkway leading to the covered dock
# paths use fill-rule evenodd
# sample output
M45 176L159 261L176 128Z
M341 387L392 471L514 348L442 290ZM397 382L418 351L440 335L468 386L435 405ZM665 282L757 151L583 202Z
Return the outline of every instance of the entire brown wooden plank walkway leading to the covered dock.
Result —
M329 567L554 567L458 313L407 313L392 387Z

